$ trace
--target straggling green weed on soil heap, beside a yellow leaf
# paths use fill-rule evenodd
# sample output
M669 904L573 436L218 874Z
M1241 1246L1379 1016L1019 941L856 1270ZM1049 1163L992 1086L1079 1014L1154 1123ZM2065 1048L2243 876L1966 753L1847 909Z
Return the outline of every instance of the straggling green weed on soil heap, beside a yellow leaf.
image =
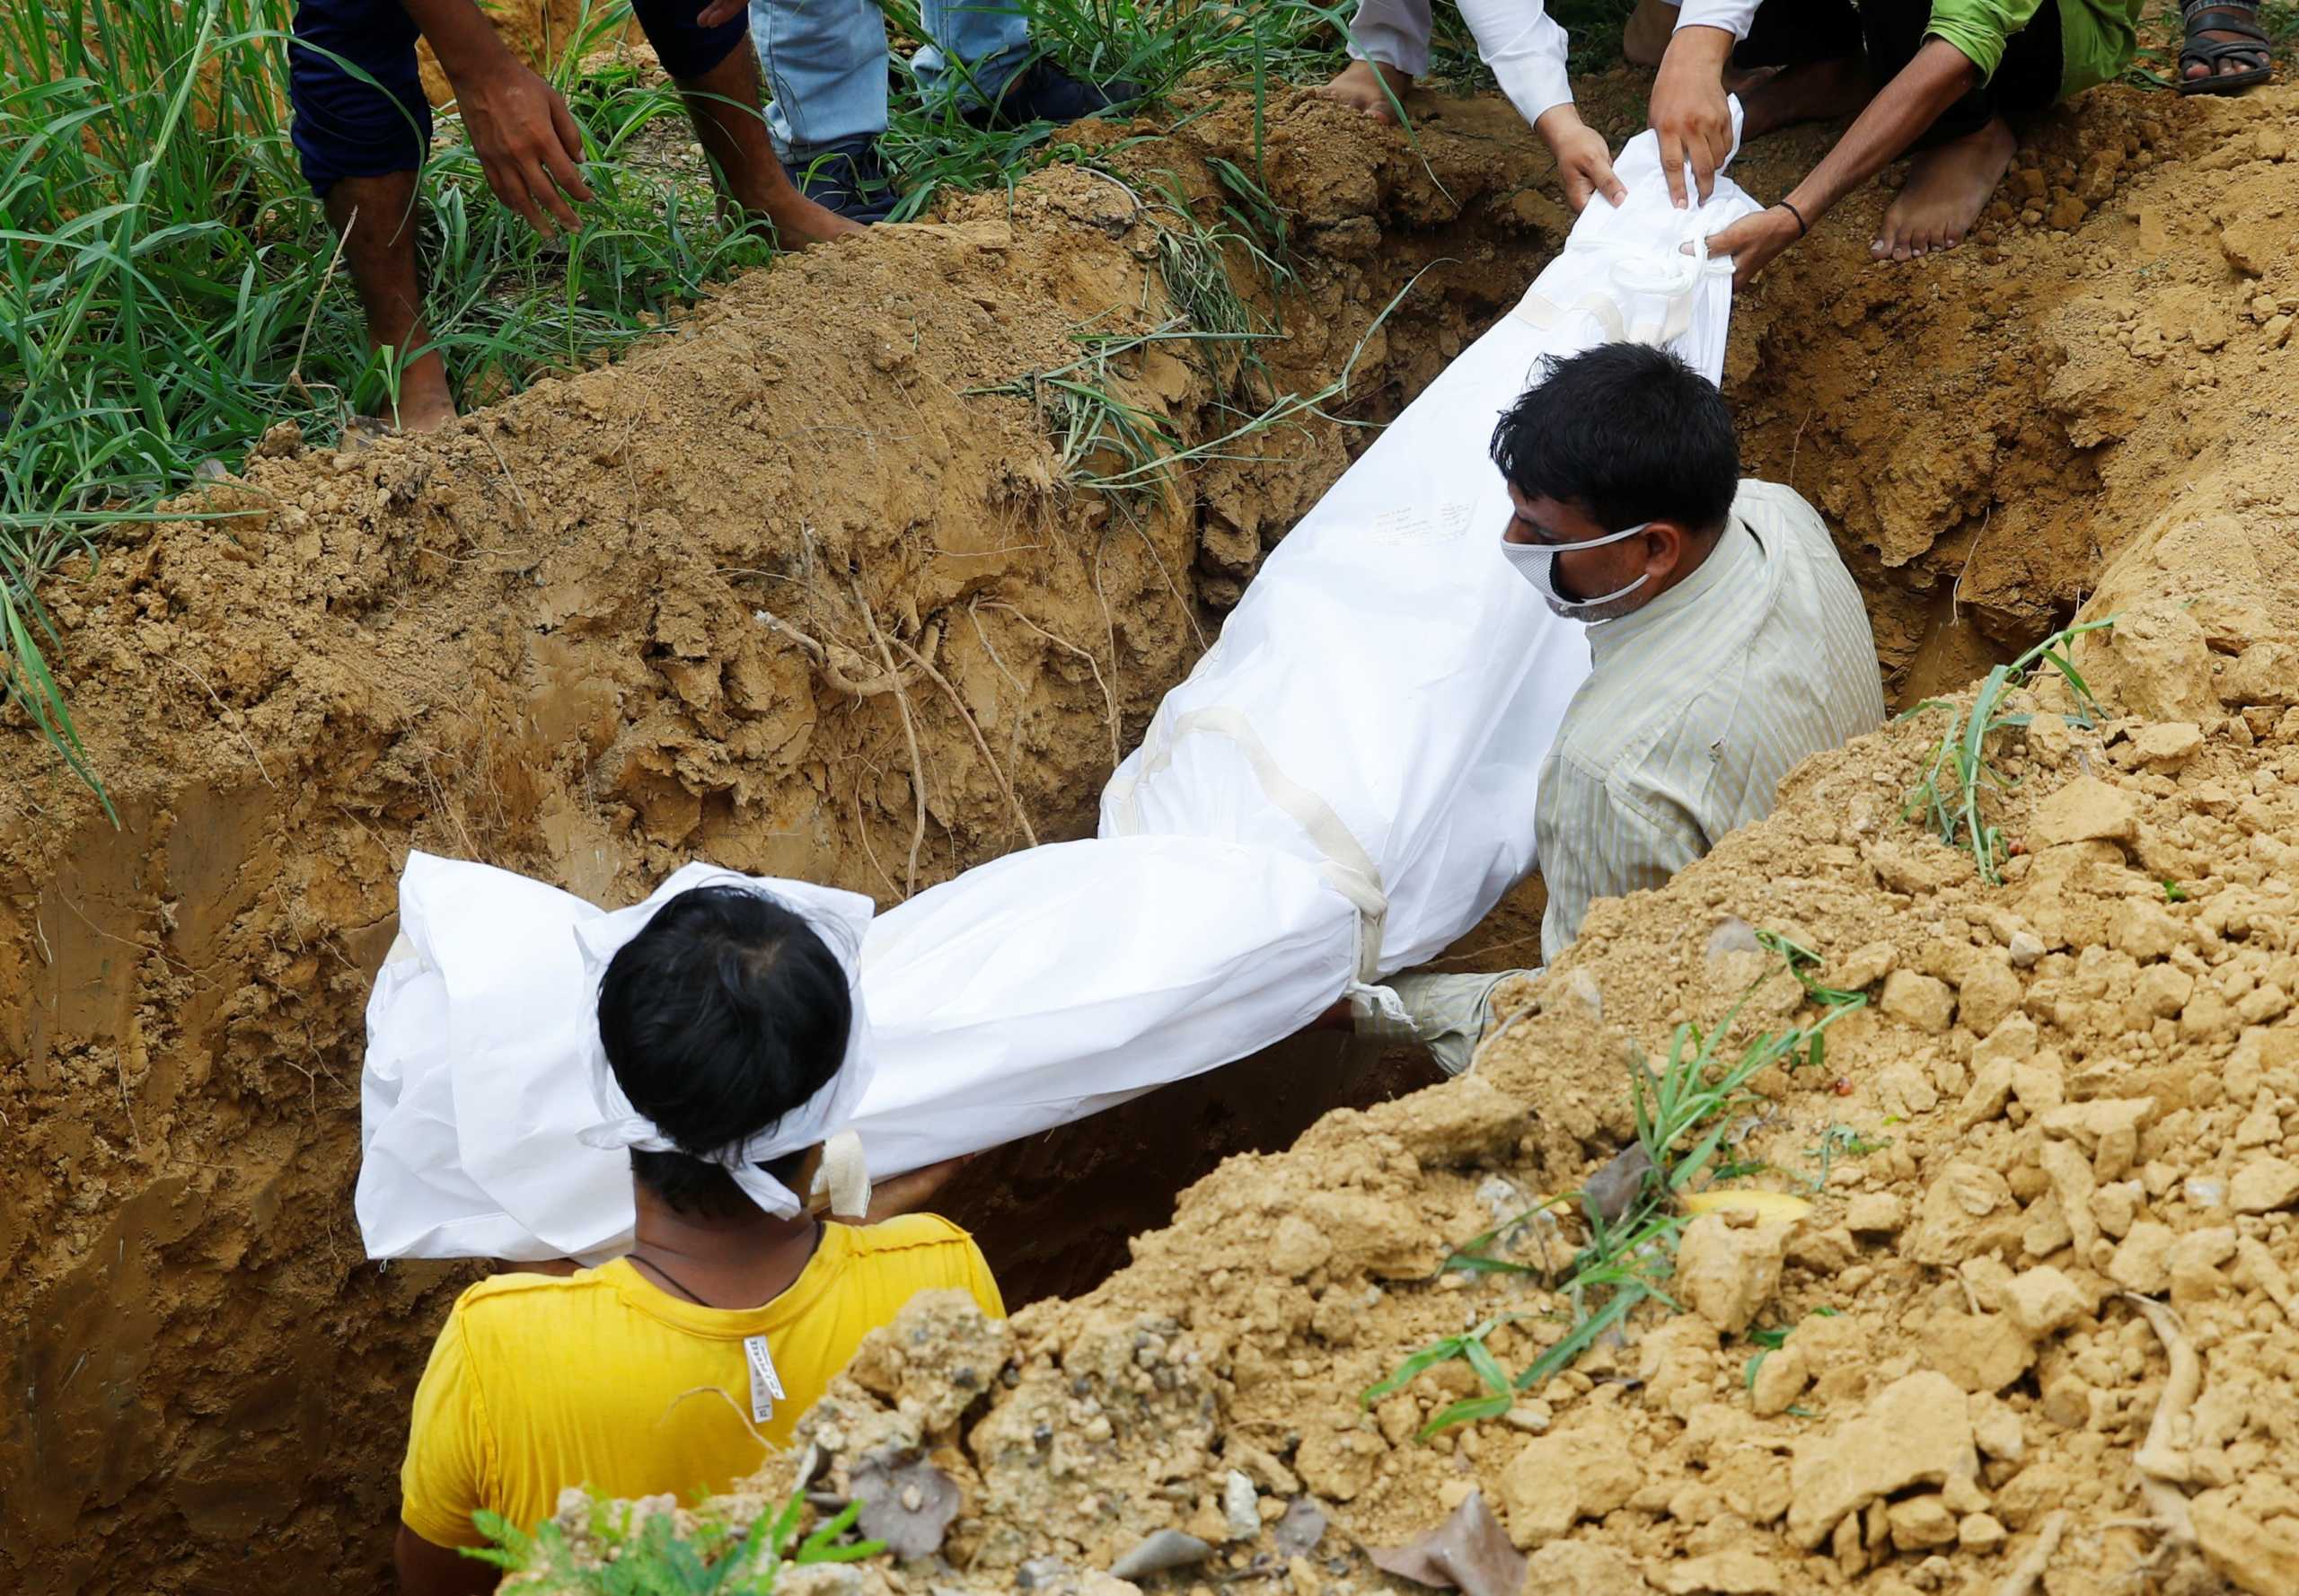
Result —
M1527 1368L1508 1375L1501 1361L1485 1345L1485 1338L1501 1325L1524 1315L1494 1315L1460 1336L1446 1336L1407 1357L1382 1382L1363 1394L1373 1403L1402 1391L1416 1375L1446 1359L1462 1359L1483 1384L1481 1396L1451 1403L1421 1428L1428 1440L1455 1424L1497 1419L1506 1414L1524 1391L1540 1387L1550 1375L1570 1368L1600 1336L1616 1329L1639 1304L1658 1302L1669 1311L1681 1311L1667 1295L1667 1276L1676 1260L1676 1237L1685 1226L1678 1198L1713 1184L1720 1175L1717 1154L1724 1150L1738 1108L1745 1108L1754 1092L1750 1081L1782 1065L1786 1069L1819 1065L1825 1058L1828 1028L1867 998L1858 991L1837 991L1821 984L1812 970L1821 959L1809 947L1759 931L1756 941L1782 964L1750 982L1747 991L1731 1005L1720 1023L1708 1030L1678 1026L1669 1039L1669 1058L1660 1069L1637 1060L1630 1076L1632 1108L1637 1120L1637 1145L1644 1152L1644 1175L1625 1212L1607 1219L1589 1194L1566 1194L1536 1203L1524 1214L1462 1242L1446 1269L1469 1274L1520 1274L1547 1281L1568 1304L1566 1334L1536 1357ZM1724 1044L1740 1021L1740 1012L1756 989L1786 970L1805 989L1819 1010L1809 1021L1784 1030L1759 1033L1738 1053L1727 1053ZM1522 1223L1550 1212L1579 1210L1586 1240L1561 1269L1492 1256L1492 1246Z

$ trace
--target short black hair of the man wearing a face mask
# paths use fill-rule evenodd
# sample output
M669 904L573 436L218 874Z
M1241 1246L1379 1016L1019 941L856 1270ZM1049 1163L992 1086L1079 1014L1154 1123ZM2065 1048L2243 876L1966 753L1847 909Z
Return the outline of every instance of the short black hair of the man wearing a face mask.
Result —
M1492 430L1492 462L1527 499L1568 504L1605 531L1664 520L1715 534L1740 488L1731 405L1641 343L1545 359Z

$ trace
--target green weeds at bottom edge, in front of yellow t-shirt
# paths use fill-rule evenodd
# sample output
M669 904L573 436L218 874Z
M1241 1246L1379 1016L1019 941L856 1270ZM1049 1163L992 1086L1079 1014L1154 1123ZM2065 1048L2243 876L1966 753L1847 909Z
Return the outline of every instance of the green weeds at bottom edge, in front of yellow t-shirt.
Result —
M768 1596L784 1568L851 1564L885 1550L853 1539L860 1502L800 1534L805 1511L805 1497L793 1495L747 1532L703 1520L683 1536L669 1513L632 1525L628 1509L600 1502L584 1548L556 1520L529 1534L501 1513L478 1513L474 1522L492 1545L464 1555L520 1575L520 1589L533 1596Z

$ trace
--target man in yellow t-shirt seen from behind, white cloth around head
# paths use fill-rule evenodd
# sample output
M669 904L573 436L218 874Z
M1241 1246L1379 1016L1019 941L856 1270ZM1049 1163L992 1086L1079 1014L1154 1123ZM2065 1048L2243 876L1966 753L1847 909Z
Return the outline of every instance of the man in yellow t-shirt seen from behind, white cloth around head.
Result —
M740 885L671 897L600 982L600 1042L630 1118L681 1150L630 1154L630 1256L467 1290L416 1389L400 1470L405 1596L492 1589L478 1509L533 1527L559 1493L724 1490L786 1444L862 1338L926 1290L1005 1315L972 1237L910 1214L823 1223L789 1198L812 1150L745 1164L848 1067L851 950ZM703 1148L715 1152L687 1152ZM768 1180L761 1180L761 1173Z

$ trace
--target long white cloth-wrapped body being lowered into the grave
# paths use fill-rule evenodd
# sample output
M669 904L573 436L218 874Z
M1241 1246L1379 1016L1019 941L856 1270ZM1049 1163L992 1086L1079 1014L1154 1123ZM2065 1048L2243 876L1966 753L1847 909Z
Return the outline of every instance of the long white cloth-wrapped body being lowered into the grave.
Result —
M1101 793L1090 842L1014 853L871 920L885 1177L1255 1053L1423 964L1533 867L1533 789L1589 672L1582 626L1499 552L1487 458L1543 356L1662 343L1724 366L1729 179L1669 205L1655 140L1618 163L1524 301L1269 554L1221 639ZM1685 251L1685 244L1692 251ZM701 867L690 867L697 878ZM681 872L664 890L678 885ZM605 911L414 853L368 1003L359 1226L375 1258L602 1258L630 1164L586 1148L595 991L572 927Z

